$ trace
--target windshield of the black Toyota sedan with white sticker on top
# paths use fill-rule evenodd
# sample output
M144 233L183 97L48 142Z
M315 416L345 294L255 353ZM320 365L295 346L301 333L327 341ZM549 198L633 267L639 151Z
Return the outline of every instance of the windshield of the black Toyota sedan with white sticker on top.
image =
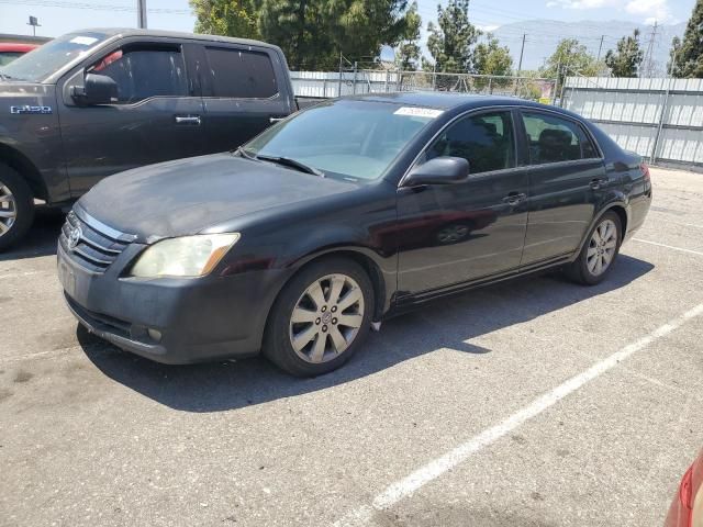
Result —
M377 179L440 113L387 102L322 103L268 128L245 145L244 154L292 159L324 176Z

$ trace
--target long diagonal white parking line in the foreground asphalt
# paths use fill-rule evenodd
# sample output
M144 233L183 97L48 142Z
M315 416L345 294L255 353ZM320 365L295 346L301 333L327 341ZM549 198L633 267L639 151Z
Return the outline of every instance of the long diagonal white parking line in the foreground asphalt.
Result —
M646 348L655 340L669 335L691 318L703 314L703 304L687 311L681 316L659 326L650 334L644 336L639 340L632 343L610 357L596 362L588 370L559 384L557 388L540 395L529 405L514 413L502 423L483 430L478 436L472 437L467 442L459 445L454 450L448 451L444 456L428 462L424 467L415 470L408 476L391 483L383 492L378 494L370 505L364 505L359 508L350 511L343 518L334 523L335 527L360 526L368 524L377 511L387 509L395 505L401 500L409 497L415 491L426 485L431 481L440 476L445 472L451 470L459 463L466 461L473 453L482 450L498 439L510 434L512 430L542 414L544 411L554 406L567 395L576 392L589 381L596 379L606 371L616 367L620 362L631 357L633 354Z

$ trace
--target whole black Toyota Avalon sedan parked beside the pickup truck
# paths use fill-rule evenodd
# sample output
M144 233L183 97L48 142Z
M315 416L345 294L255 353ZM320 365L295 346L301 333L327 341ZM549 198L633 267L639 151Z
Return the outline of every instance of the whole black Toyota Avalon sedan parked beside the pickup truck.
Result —
M433 299L558 267L599 283L650 201L640 158L573 113L355 97L233 152L107 178L68 215L58 273L80 323L125 350L260 351L317 375Z

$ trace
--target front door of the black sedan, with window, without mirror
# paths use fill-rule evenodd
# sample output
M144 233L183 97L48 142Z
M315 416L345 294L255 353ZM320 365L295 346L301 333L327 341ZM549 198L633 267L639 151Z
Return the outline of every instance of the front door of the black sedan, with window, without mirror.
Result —
M464 157L461 183L401 188L399 291L421 293L516 269L527 225L527 175L517 167L509 110L471 113L450 124L420 162Z

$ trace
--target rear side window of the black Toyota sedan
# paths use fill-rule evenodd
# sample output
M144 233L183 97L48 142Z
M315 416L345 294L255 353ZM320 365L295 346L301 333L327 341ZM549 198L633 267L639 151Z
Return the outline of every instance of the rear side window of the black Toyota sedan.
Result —
M569 120L544 113L523 112L529 143L529 164L574 161L598 157L581 127Z

